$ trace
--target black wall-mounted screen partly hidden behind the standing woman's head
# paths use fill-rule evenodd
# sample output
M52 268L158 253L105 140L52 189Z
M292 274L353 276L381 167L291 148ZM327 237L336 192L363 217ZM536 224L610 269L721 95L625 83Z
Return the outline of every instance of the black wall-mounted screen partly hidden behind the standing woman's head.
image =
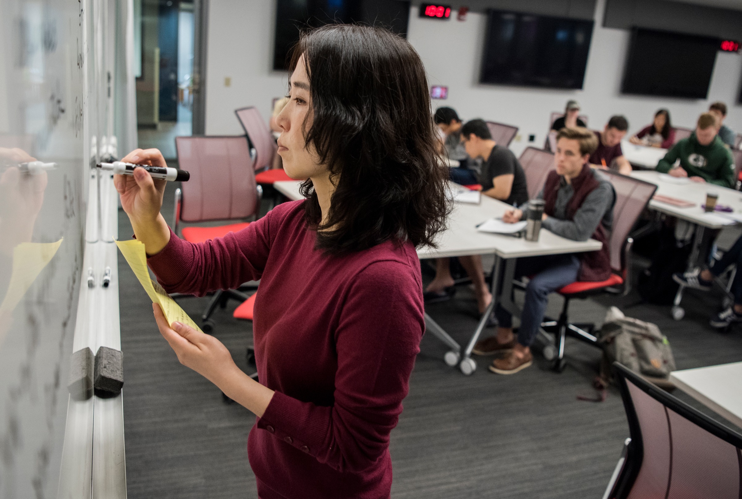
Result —
M407 38L410 1L401 0L278 0L273 69L286 70L299 30L332 23L359 22L383 26Z

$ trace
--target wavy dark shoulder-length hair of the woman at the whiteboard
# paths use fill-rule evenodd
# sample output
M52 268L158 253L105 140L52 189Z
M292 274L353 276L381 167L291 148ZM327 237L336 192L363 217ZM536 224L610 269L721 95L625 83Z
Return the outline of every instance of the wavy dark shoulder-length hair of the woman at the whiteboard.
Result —
M318 249L337 255L389 240L434 247L450 212L448 172L415 49L381 27L326 25L302 33L290 71L302 55L312 99L306 146L335 184L324 224L312 180L301 185Z

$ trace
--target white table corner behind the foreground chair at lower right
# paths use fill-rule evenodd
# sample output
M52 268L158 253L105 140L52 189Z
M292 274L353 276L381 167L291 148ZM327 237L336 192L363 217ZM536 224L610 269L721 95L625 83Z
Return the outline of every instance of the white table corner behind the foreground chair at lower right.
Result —
M742 428L742 362L672 371L670 381Z

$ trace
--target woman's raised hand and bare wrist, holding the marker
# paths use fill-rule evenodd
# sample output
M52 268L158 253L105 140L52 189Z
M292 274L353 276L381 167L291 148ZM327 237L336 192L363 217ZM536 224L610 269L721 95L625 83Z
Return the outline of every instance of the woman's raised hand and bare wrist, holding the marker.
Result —
M122 163L167 166L158 149L136 149L122 158ZM135 168L134 175L114 175L121 206L129 215L134 235L145 244L148 255L156 255L170 241L170 229L160 214L166 180L154 180L143 168Z

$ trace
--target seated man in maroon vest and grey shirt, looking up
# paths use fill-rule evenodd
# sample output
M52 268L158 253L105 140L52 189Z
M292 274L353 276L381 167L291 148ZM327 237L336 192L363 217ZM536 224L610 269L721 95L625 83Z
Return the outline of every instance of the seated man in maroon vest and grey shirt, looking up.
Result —
M504 353L490 365L497 374L514 374L531 365L531 343L546 310L548 296L560 287L580 281L603 281L611 274L608 238L613 222L615 192L600 170L588 166L597 138L587 128L562 128L557 135L556 170L549 173L538 198L545 200L543 227L573 241L594 238L603 248L587 253L519 258L516 277L531 275L517 339L512 316L496 307L497 334L478 342L473 353ZM502 220L522 220L526 205L505 212ZM517 341L516 341L517 340Z

